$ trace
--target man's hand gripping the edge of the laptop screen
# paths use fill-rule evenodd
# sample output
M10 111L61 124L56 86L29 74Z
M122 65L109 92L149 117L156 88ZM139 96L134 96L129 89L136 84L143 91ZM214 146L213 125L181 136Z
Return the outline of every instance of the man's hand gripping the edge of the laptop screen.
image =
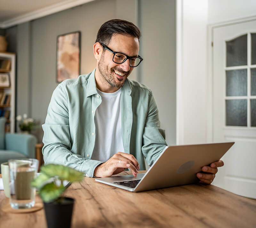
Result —
M217 167L224 165L224 162L219 160L218 162L213 162L210 166L203 166L202 171L207 173L198 172L196 176L200 179L199 183L211 184L215 178L215 174L218 172Z

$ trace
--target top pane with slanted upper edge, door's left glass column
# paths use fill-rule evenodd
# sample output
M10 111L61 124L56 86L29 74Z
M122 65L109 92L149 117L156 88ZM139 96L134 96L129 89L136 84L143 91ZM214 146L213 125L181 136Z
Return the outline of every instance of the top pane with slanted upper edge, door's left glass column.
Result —
M227 66L247 65L247 34L226 41Z

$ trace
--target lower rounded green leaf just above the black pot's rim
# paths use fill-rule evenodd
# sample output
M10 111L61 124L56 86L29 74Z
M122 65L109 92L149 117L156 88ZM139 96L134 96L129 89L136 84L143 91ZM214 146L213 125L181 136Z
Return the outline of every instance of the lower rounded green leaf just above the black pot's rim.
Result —
M61 184L56 186L54 182L46 184L39 191L39 195L44 202L51 202L60 197L60 195L66 190L66 188Z

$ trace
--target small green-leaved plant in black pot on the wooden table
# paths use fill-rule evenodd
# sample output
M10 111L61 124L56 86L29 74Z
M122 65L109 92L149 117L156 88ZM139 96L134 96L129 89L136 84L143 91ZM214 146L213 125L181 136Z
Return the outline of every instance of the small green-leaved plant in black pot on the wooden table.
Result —
M82 181L84 173L67 166L48 164L42 166L41 174L31 185L36 187L44 201L44 211L48 228L69 228L71 225L74 199L63 197L61 194L68 188L65 181L71 183Z

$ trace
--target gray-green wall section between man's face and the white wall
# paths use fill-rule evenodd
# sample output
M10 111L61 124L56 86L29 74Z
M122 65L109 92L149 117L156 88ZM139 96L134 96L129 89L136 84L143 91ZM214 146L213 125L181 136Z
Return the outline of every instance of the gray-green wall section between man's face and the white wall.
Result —
M140 80L153 92L168 145L176 144L176 6L172 0L140 1Z

